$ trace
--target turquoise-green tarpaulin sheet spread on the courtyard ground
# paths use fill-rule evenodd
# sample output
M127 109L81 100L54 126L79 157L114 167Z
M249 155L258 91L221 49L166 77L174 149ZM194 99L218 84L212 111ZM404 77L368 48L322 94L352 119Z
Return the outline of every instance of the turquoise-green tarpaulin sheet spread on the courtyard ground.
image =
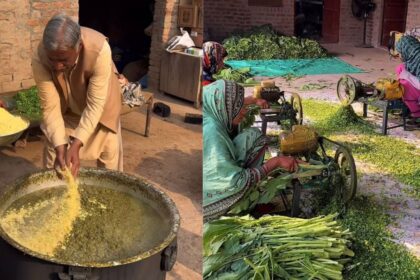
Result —
M316 59L228 60L226 64L233 69L250 67L252 75L262 77L278 77L287 74L303 76L363 73L361 69L336 57Z

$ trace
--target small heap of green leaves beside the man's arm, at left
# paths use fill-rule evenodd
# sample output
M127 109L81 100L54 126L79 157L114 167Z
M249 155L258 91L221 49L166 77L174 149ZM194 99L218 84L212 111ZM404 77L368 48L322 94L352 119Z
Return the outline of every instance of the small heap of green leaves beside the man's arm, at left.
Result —
M39 121L42 118L41 104L38 97L38 89L34 86L19 91L15 96L16 110L22 116L31 121Z

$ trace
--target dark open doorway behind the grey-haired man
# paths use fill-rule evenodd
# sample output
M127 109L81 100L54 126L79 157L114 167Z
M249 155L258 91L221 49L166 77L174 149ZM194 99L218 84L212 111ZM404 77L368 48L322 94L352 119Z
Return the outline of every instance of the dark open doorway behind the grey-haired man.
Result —
M139 81L148 71L154 4L155 0L79 0L80 25L109 38L114 63L130 81Z

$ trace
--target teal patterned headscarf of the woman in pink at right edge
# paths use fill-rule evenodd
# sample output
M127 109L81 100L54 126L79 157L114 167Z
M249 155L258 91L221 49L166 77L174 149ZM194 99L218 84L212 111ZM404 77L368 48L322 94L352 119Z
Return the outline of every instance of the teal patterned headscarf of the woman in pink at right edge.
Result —
M407 71L420 79L420 42L413 36L403 36L396 47Z

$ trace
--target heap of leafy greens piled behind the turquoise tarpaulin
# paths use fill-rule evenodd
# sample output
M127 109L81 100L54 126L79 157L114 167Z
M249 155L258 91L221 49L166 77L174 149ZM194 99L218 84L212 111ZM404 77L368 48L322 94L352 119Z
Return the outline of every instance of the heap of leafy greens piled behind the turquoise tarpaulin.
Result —
M228 59L268 60L327 57L317 42L294 36L282 36L272 26L263 25L234 33L223 41Z

